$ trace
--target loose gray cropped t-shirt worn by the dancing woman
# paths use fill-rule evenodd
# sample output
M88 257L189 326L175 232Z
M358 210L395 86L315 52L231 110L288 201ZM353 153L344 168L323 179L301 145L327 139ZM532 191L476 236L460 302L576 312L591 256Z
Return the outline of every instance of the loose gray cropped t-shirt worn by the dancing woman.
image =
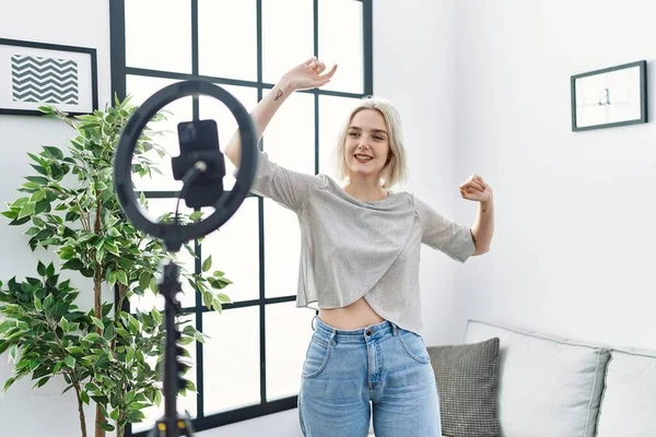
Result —
M469 227L408 192L363 202L326 175L290 170L267 153L258 157L251 192L298 217L296 307L342 308L364 296L380 317L421 335L421 244L465 262L475 248Z

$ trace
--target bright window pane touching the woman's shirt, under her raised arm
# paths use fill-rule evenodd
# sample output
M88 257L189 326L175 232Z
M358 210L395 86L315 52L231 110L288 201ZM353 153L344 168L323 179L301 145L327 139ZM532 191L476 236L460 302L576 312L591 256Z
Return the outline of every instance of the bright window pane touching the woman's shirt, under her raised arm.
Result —
M265 288L267 297L296 295L301 231L296 214L265 199Z

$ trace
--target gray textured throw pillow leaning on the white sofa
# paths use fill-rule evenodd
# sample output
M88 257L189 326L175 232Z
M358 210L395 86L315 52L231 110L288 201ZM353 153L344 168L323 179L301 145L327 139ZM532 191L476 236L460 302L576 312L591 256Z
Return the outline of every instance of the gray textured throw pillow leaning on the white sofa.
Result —
M499 437L499 338L430 346L445 437Z

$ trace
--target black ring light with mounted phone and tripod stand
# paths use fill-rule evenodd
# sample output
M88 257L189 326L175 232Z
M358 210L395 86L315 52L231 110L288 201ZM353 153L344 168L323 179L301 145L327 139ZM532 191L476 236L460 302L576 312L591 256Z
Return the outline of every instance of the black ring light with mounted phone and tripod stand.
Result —
M194 120L178 125L180 155L173 158L173 175L183 180L178 198L185 199L187 206L213 206L214 212L207 218L180 225L176 220L169 223L153 223L142 211L132 184L132 155L141 132L167 104L189 95L208 95L223 102L237 120L242 140L242 163L237 180L230 193L223 192L225 164L219 147L216 123L213 120ZM190 240L201 238L223 225L241 206L250 190L257 167L257 138L253 120L244 106L229 92L203 81L184 81L168 85L149 97L128 120L118 143L115 157L115 188L118 201L128 220L136 228L154 238L164 240L166 250L177 252ZM178 356L183 349L176 344L180 333L175 326L175 316L180 312L177 294L181 292L179 268L175 262L164 265L159 291L165 300L166 345L164 352L164 416L152 430L153 437L191 436L187 417L178 415L177 393L185 380L179 371L183 364Z

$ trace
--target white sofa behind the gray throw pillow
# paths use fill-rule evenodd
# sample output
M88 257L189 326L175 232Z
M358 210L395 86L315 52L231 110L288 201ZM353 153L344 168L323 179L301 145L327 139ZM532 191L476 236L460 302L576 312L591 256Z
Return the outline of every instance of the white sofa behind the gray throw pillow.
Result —
M464 343L493 338L501 436L656 437L656 351L478 320L468 322Z

